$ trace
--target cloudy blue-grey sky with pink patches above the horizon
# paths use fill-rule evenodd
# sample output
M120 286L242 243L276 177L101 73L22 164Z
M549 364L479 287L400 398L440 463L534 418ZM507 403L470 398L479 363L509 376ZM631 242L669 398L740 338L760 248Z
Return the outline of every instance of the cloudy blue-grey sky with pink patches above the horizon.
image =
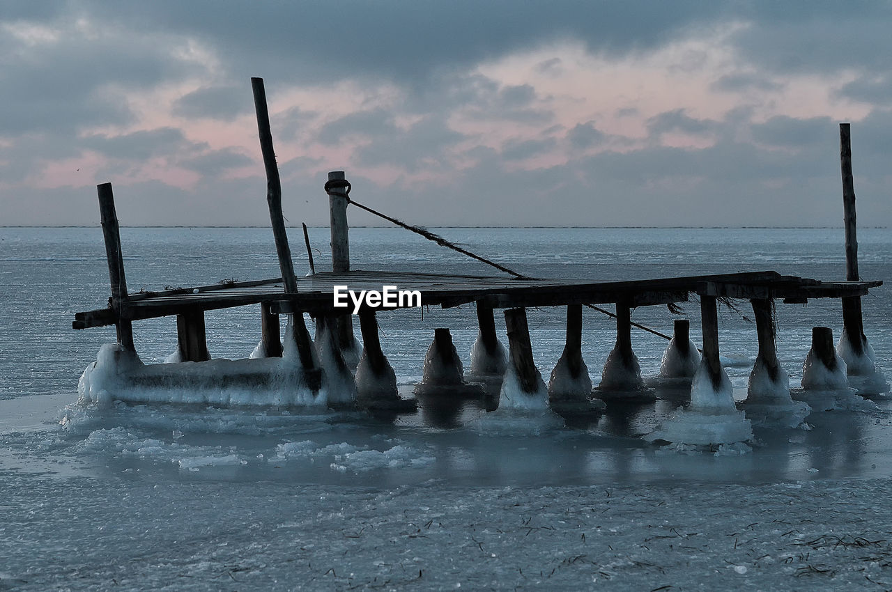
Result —
M892 3L4 0L0 226L892 225ZM351 225L386 224L355 208Z

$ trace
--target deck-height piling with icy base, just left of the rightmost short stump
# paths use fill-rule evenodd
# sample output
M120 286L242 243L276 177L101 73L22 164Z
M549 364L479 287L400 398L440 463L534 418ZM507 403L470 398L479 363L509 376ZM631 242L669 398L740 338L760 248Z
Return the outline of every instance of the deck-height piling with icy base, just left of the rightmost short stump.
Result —
M769 428L803 425L811 407L790 397L789 375L780 367L777 357L774 302L769 299L750 302L756 317L759 352L749 374L747 400L743 403L747 417L755 425Z

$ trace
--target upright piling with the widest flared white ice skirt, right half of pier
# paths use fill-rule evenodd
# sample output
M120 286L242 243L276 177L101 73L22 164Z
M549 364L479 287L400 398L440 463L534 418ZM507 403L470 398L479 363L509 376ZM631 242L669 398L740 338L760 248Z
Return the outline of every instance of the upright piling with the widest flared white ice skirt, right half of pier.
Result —
M719 362L718 311L714 296L700 296L703 358L690 385L690 406L680 408L645 440L716 446L744 442L752 427L734 405L731 379Z

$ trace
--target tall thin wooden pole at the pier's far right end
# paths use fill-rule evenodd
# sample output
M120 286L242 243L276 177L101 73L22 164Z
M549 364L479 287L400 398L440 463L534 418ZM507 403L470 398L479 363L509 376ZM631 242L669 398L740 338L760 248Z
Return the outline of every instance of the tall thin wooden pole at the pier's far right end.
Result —
M842 172L842 201L846 225L846 281L857 282L858 275L858 229L855 216L855 177L852 173L851 126L839 124L839 163ZM842 299L843 331L856 355L864 350L864 325L861 311L861 297L848 296Z

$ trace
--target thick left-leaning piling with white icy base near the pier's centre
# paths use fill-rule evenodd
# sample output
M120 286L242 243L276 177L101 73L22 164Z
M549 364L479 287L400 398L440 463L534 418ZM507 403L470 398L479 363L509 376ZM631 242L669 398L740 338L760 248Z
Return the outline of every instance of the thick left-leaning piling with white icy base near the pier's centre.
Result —
M508 367L499 395L499 407L516 409L548 408L548 390L533 362L533 344L525 308L505 311L508 329Z

